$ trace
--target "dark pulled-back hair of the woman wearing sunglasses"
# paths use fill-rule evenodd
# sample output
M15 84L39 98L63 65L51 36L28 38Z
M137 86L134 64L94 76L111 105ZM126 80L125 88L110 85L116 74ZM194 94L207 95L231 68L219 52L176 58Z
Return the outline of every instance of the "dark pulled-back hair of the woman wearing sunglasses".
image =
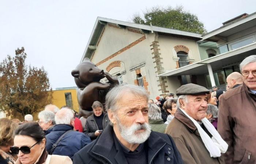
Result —
M42 141L45 138L44 130L37 122L26 122L19 125L14 132L14 136L16 135L29 136L37 142Z

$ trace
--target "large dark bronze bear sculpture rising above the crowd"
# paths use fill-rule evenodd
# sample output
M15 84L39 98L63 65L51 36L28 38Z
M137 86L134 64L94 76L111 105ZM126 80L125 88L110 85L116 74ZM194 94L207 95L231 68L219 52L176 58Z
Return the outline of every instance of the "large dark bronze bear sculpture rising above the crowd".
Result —
M114 85L118 85L118 79L109 73L99 69L89 58L84 58L75 70L71 71L78 86L78 103L80 105L80 116L92 113L91 106L94 101L105 103L105 96ZM109 82L101 83L102 78L107 78ZM82 109L82 110L81 110Z

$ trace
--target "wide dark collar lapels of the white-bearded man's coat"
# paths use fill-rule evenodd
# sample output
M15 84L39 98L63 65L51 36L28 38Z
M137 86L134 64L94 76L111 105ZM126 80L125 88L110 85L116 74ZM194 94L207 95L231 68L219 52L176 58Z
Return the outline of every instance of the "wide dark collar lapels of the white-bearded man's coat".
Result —
M110 163L113 163L111 159L115 159L117 163L124 163L126 160L124 160L125 156L123 154L123 149L120 145L114 143L113 133L113 127L110 125L106 126L102 134L95 140L96 144L88 151L88 153L96 157L96 159L98 159L98 156L102 156ZM157 133L151 132L145 143L148 148L148 162L150 162L154 159L159 150L165 146L166 141ZM113 146L116 148L116 154L111 151Z

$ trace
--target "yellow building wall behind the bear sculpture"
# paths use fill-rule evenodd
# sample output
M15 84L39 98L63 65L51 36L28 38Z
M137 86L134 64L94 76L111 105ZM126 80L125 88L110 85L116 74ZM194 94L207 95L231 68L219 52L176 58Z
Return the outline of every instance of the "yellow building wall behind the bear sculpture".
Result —
M52 91L52 104L58 108L66 105L65 93L71 93L73 109L79 111L79 104L77 100L76 89L53 90Z

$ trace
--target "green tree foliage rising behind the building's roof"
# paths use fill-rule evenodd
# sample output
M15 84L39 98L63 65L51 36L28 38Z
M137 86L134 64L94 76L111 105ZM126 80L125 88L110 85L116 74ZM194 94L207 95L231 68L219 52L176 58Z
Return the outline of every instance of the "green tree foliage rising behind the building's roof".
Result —
M133 23L147 24L153 26L172 28L181 31L205 34L207 31L204 24L200 22L196 15L184 11L182 6L176 8L153 7L144 12L144 18L137 13L132 17Z

